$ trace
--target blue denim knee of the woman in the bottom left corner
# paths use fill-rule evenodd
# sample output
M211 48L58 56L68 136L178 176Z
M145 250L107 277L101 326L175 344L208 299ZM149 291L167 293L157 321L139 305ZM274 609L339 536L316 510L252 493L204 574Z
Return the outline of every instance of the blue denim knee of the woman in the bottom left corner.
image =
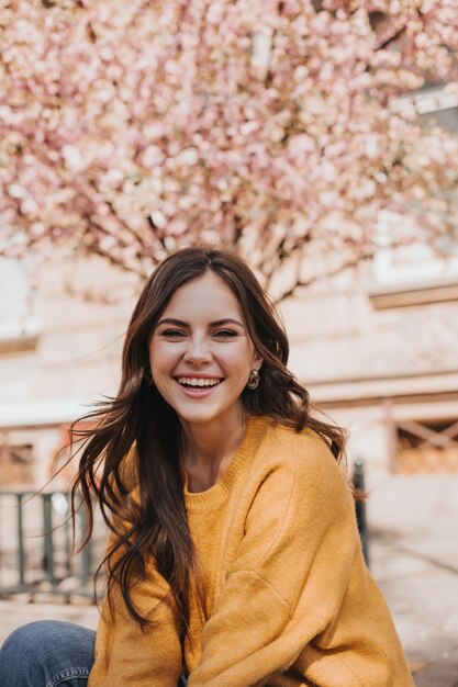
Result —
M0 687L86 687L96 632L40 620L15 630L0 650Z

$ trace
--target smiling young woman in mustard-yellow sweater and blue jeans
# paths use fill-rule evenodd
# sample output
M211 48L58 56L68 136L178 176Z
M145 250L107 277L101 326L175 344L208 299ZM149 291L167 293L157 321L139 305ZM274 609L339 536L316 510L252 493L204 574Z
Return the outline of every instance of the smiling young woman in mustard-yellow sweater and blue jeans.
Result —
M16 630L2 686L413 685L362 560L343 432L287 361L239 258L187 248L156 269L75 485L110 528L97 635Z

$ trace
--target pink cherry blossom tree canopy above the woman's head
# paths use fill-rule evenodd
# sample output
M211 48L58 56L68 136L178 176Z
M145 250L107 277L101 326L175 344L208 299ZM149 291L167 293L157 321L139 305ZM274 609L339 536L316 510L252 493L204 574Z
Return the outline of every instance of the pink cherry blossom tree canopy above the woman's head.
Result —
M457 88L455 0L1 0L0 25L3 255L145 274L214 241L289 291L370 257L383 210L399 243L457 226L458 142L400 100Z

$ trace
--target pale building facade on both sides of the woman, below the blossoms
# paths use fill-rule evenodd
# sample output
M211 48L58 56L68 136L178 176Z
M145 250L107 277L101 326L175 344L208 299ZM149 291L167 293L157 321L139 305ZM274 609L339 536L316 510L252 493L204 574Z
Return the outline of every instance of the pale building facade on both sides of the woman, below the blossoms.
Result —
M280 305L290 368L369 483L458 471L458 257L387 250ZM0 486L36 488L65 462L69 424L115 393L138 284L98 258L56 257L37 286L0 268Z

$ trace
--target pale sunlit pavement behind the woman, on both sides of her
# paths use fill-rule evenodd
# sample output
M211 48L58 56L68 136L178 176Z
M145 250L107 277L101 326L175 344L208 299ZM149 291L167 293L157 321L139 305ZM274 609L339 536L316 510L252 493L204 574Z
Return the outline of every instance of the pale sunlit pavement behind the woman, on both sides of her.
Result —
M416 687L458 686L458 475L389 477L368 502L371 571ZM41 618L96 629L93 606L0 600L0 643ZM371 687L368 685L367 687Z

